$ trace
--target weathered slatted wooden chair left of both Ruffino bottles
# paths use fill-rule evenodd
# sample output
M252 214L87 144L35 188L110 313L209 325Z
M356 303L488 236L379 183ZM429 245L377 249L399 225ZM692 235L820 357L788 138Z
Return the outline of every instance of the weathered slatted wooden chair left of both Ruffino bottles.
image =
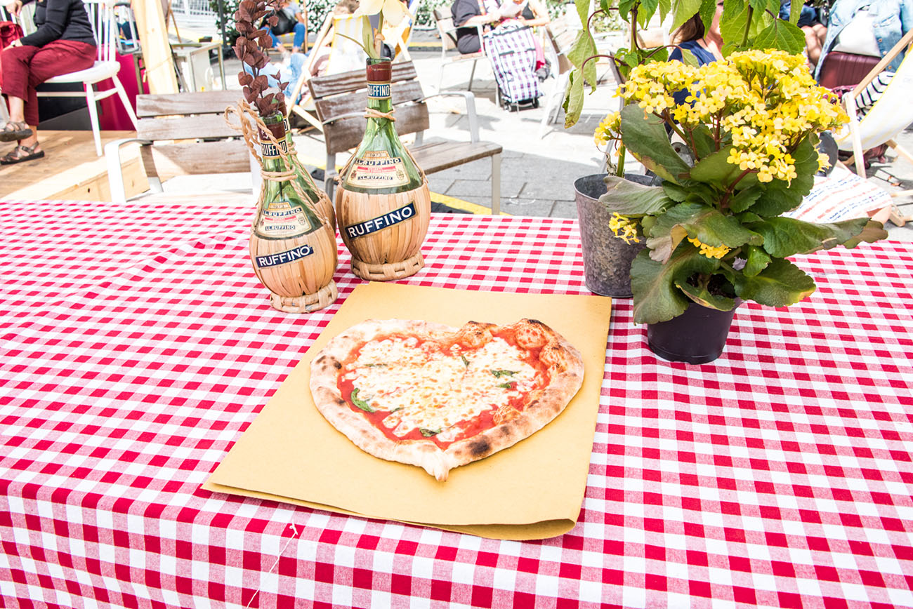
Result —
M162 181L177 175L250 171L247 144L223 115L240 98L237 90L137 96L136 137L105 145L111 200L126 201L121 146L131 142L141 145L152 192L162 192Z

